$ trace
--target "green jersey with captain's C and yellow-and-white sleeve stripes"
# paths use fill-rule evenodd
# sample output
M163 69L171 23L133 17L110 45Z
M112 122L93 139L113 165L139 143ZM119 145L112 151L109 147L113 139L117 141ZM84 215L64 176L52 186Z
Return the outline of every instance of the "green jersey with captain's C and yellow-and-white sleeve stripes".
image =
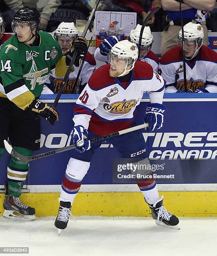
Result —
M41 95L50 70L62 56L54 36L39 31L39 37L39 46L29 46L19 42L15 34L0 49L0 97L7 97L22 109Z

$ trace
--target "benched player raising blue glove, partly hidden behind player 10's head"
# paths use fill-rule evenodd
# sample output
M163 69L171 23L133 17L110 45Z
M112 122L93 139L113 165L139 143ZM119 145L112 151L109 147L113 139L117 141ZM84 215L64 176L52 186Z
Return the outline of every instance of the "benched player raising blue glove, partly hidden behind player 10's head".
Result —
M142 26L140 24L137 24L137 26L130 31L130 35L128 37L128 40L132 43L135 43L137 46L139 44L141 28ZM112 46L117 44L117 42L118 39L116 36L108 36L107 38L105 38L99 45L99 47L96 49L94 53L94 58L98 61L106 62L107 56ZM158 72L159 58L155 53L153 53L153 51L151 51L152 43L153 36L150 27L145 27L142 33L139 60L147 62L152 66L155 72Z

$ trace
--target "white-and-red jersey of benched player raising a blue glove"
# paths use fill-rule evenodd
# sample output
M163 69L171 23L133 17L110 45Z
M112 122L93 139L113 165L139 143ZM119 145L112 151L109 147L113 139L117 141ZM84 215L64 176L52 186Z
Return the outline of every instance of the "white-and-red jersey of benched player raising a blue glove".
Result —
M94 53L94 58L98 61L107 62L107 56L102 55L100 53L99 47L96 49L96 51ZM154 69L155 72L158 72L159 58L157 57L157 55L155 53L153 53L153 51L149 51L147 53L147 55L145 56L145 58L140 59L140 61L147 62L148 64L150 64L152 66L152 68Z

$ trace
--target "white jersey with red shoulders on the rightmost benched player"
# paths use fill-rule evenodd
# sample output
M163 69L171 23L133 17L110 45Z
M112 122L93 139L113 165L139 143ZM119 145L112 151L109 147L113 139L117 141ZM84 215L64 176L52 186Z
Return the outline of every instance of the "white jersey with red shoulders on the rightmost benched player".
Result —
M160 74L166 80L165 92L184 90L182 49L176 46L160 59ZM187 89L193 92L206 88L217 92L217 53L207 46L201 46L194 60L186 59Z

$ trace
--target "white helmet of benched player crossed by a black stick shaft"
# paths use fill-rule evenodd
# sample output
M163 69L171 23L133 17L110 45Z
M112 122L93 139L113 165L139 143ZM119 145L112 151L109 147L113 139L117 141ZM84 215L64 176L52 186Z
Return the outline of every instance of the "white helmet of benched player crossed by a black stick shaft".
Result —
M137 46L140 40L141 28L142 28L142 25L137 24L137 26L130 31L130 36L128 38L130 42L135 43ZM152 43L153 43L153 36L150 30L150 27L145 27L142 33L141 49L147 49L147 51L145 51L145 54L143 54L143 56L140 59L144 58L147 55L147 53L152 48Z

